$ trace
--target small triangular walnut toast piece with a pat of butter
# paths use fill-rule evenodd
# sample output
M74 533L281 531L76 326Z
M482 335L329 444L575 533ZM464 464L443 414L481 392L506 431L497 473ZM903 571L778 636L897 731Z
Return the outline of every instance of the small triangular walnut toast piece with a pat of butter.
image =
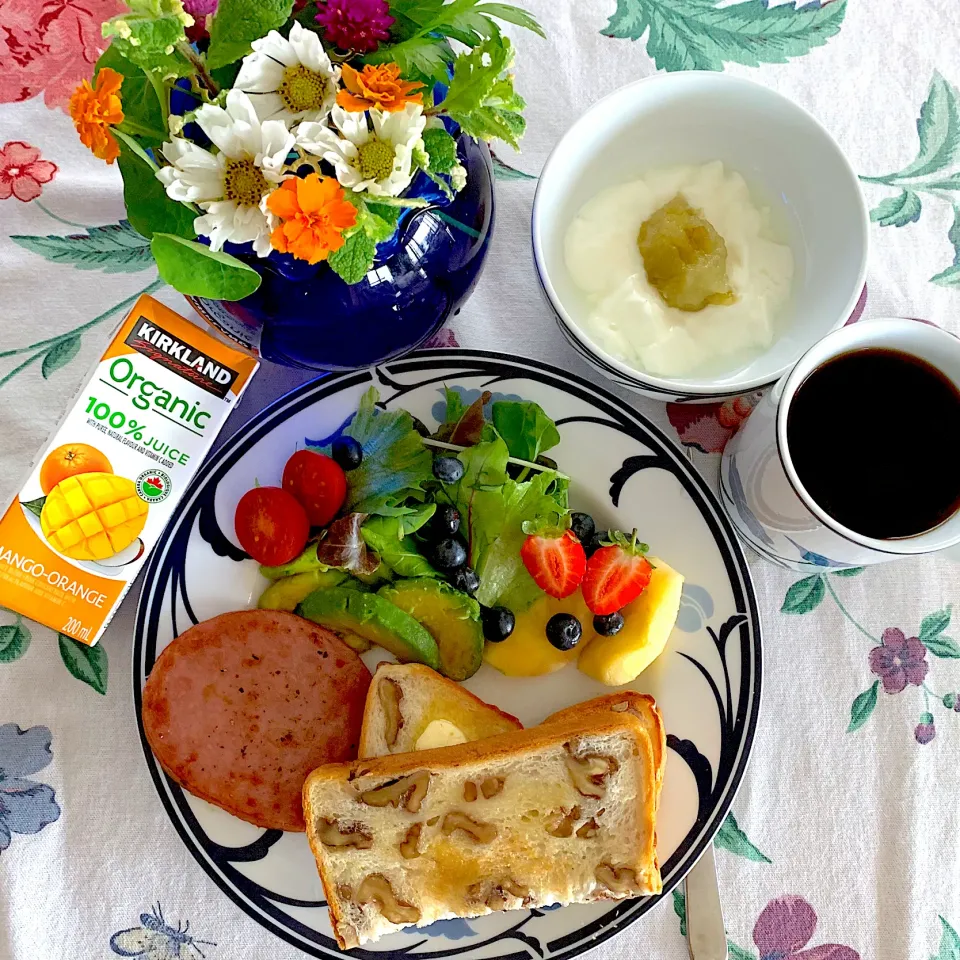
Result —
M412 753L522 729L516 717L422 663L381 663L367 692L358 756Z

